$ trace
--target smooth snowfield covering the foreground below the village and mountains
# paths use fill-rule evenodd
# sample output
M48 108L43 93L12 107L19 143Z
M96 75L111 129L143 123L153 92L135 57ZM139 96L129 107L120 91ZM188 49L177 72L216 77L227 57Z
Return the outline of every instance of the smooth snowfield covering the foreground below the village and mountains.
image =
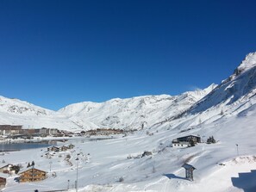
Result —
M185 133L175 129L165 129L147 135L144 131L120 137L90 141L88 139L72 139L75 145L72 152L55 153L47 158L46 148L7 152L1 157L6 163L22 164L34 160L35 168L52 172L48 178L37 183L14 183L9 177L4 192L25 192L66 189L75 191L74 183L77 174L78 160L78 191L254 191L256 183L256 144L255 106L248 108L244 115L236 115L222 119L207 126L197 126ZM198 144L195 147L175 149L170 147L172 139L186 134L200 134L203 139L214 135L216 144ZM237 153L236 144L239 146ZM62 144L59 144L59 146ZM136 157L144 151L153 152L152 156ZM88 155L90 153L90 155ZM52 153L53 154L53 153ZM71 164L65 160L71 155ZM182 164L192 164L194 181L184 179ZM243 177L243 174L246 176ZM119 182L123 178L123 182ZM67 180L70 189L67 190ZM209 188L209 186L211 186ZM241 187L241 188L240 188Z

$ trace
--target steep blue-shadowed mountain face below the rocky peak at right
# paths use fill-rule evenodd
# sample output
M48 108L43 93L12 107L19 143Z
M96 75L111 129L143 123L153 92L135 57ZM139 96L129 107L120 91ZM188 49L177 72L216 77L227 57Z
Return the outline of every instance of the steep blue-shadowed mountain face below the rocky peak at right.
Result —
M197 103L191 113L204 111L220 103L227 106L235 102L246 102L256 93L256 53L250 53L234 71L234 74L224 80L215 91L205 96Z

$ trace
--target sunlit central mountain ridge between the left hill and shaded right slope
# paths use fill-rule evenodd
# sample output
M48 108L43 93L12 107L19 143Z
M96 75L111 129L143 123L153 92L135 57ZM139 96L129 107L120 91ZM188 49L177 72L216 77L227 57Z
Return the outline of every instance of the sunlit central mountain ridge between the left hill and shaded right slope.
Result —
M80 102L61 108L59 113L69 116L85 129L141 129L152 127L159 119L165 120L165 117L184 112L215 87L215 84L211 84L205 90L189 91L179 96L138 96L102 103ZM97 127L91 127L87 122L92 122Z

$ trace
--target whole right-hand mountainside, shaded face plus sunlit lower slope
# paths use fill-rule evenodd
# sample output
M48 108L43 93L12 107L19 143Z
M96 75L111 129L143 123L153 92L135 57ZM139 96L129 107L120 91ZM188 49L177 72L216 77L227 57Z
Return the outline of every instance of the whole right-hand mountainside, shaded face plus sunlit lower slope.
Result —
M234 74L184 113L159 121L157 126L193 128L238 115L256 103L256 53L247 55Z

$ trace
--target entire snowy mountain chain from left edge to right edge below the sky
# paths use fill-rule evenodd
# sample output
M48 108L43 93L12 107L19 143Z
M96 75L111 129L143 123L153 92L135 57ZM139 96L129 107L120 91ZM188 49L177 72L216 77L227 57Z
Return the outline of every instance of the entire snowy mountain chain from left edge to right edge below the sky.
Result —
M218 86L178 96L137 96L107 102L79 102L55 112L0 97L0 124L55 127L66 130L95 128L141 129L187 127L237 115L255 103L256 53L249 53L234 74ZM167 124L166 124L167 123Z

